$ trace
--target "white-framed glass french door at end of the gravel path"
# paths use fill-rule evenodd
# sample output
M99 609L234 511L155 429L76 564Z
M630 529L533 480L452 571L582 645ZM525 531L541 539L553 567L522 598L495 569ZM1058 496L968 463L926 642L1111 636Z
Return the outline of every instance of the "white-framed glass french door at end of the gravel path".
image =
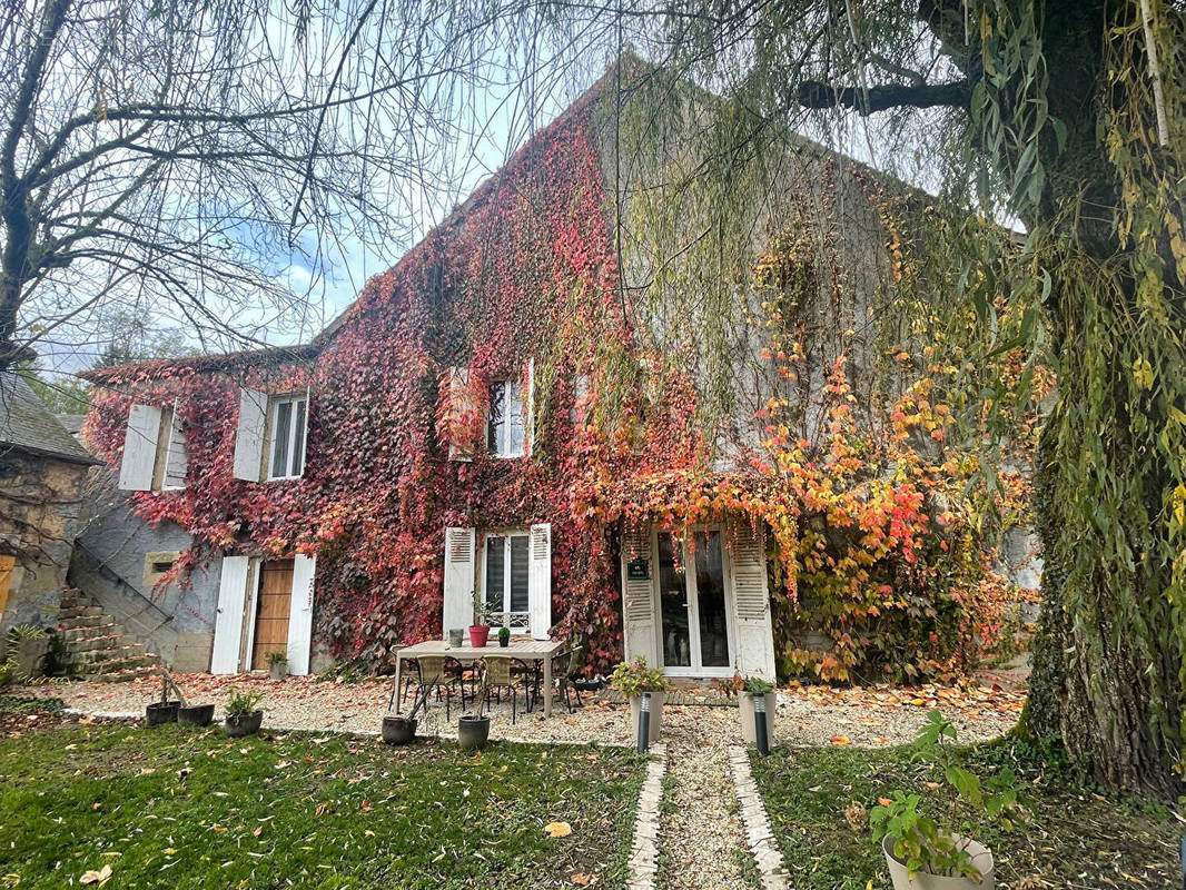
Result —
M655 547L664 673L732 674L733 622L720 529L695 528L682 545L657 532Z

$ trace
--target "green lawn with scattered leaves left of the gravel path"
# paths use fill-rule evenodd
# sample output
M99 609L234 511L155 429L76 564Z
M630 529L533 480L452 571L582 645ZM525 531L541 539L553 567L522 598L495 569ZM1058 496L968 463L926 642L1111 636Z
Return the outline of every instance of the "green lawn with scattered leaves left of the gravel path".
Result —
M621 886L644 762L2 714L0 888ZM43 729L36 729L42 724ZM32 729L30 729L32 726ZM15 735L18 733L19 735ZM569 822L549 838L543 826Z

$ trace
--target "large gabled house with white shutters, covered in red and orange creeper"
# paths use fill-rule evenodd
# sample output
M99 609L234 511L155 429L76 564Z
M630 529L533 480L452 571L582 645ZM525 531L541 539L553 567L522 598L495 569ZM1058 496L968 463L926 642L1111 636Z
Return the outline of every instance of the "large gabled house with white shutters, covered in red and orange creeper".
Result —
M607 104L612 82L312 344L91 373L83 434L121 494L76 583L121 615L151 603L154 648L212 673L276 649L294 674L382 666L482 611L579 641L591 670L773 678L808 646L789 574L827 557L796 548L844 552L855 528L882 555L852 590L927 646L943 616L907 617L894 584L920 584L901 567L942 557L954 520L884 472L841 507L793 489L803 468L821 490L852 475L837 431L906 388L878 365L894 276L871 171L786 138L769 177L656 208L707 136L688 106L678 139L625 146L643 112Z

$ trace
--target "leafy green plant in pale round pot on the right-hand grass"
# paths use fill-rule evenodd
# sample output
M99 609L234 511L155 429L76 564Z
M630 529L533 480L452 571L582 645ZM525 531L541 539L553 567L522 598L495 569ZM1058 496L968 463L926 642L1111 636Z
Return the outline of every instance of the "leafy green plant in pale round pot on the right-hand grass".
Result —
M931 711L919 733L916 757L933 759L948 784L969 805L971 831L994 819L1006 831L1020 807L1009 769L987 782L956 762L956 730ZM881 844L894 890L993 890L993 853L980 841L946 831L918 812L922 795L894 790L869 813L873 837ZM978 832L977 832L978 833Z

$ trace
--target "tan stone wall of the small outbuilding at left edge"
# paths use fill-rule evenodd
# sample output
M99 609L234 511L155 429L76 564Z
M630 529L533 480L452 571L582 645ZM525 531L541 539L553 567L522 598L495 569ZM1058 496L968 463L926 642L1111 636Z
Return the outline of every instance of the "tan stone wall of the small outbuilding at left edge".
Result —
M0 549L17 557L0 631L57 621L88 469L18 450L0 454Z

